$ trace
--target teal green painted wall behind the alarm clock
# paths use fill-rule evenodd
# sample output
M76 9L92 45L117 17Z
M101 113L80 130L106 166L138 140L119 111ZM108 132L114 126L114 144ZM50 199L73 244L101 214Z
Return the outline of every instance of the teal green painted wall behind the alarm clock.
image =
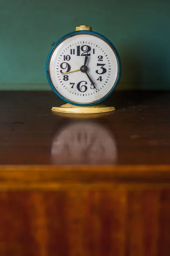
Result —
M169 0L0 0L0 89L51 90L51 45L80 24L116 46L118 89L170 89Z

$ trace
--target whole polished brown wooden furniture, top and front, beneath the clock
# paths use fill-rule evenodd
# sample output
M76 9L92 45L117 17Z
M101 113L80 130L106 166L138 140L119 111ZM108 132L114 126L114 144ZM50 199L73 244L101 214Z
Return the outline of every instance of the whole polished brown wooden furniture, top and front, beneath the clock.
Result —
M0 93L0 256L169 256L170 93L115 92L99 116Z

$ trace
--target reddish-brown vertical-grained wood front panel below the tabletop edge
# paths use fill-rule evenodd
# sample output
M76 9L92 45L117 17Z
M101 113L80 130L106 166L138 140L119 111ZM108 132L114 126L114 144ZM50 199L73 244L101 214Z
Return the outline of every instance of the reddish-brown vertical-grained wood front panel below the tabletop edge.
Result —
M169 256L170 191L1 192L5 256Z

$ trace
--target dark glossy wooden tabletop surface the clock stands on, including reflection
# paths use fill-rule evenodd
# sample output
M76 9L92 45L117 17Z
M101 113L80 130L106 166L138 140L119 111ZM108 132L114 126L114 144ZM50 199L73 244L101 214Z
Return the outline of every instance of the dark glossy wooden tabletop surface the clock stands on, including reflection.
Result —
M115 92L116 111L51 112L53 92L0 93L1 165L170 165L170 93Z

